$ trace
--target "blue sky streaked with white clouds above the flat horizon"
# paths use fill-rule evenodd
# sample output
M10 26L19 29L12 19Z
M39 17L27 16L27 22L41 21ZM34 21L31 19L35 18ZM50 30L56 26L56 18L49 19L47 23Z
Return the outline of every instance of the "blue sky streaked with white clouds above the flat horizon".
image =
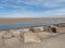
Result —
M0 0L0 17L65 17L65 0Z

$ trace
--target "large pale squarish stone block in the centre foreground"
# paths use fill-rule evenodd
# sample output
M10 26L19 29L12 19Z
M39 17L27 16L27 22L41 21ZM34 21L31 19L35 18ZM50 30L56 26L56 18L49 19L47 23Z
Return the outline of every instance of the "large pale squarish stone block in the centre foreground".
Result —
M40 37L31 32L24 33L24 43L40 43Z

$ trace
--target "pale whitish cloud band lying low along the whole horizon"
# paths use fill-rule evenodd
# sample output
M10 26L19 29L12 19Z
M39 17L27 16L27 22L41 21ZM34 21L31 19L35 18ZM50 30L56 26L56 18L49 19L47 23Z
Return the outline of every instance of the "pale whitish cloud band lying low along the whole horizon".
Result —
M12 13L1 13L0 17L65 17L65 9L54 9L46 12L12 12Z

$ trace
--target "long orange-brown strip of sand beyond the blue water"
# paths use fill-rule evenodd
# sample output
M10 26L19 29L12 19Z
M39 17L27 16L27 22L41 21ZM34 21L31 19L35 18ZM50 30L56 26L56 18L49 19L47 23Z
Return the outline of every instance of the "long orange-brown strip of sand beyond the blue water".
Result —
M39 21L63 21L65 17L22 17L22 19L0 19L0 24L15 22L39 22Z

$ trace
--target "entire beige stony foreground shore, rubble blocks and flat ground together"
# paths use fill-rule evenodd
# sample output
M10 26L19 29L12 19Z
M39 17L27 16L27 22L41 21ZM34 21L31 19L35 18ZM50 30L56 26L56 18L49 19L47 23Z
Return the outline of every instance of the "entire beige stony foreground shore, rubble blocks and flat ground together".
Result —
M56 33L53 33L52 27L56 28ZM65 27L51 25L31 28L32 31L30 28L0 31L0 48L63 48L63 46L65 48ZM62 36L54 37L61 33Z

